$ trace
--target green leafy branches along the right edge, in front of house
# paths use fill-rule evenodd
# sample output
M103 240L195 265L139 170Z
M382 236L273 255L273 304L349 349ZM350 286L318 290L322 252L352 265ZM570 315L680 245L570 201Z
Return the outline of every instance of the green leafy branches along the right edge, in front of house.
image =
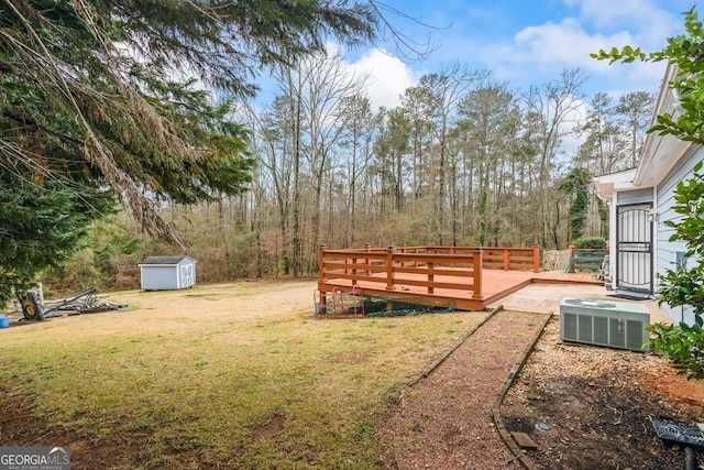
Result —
M686 34L668 39L668 45L661 51L645 54L640 48L626 46L618 51L600 51L592 54L598 59L609 59L610 63L634 61L670 61L678 67L675 78L669 83L670 88L678 92L682 113L679 117L664 113L658 117L658 123L649 132L671 134L675 138L704 144L702 128L704 127L704 29L698 20L696 8L684 13L684 30ZM667 220L664 223L674 229L670 241L686 242L686 256L694 260L695 265L678 266L660 276L657 296L660 304L668 304L671 308L692 308L695 323L689 326L680 323L678 326L657 324L650 331L653 337L651 346L664 357L672 360L681 373L690 379L704 379L702 370L704 357L704 334L702 332L702 315L704 315L704 175L701 173L702 162L694 167L694 176L678 183L674 194L673 210L680 215L678 220Z

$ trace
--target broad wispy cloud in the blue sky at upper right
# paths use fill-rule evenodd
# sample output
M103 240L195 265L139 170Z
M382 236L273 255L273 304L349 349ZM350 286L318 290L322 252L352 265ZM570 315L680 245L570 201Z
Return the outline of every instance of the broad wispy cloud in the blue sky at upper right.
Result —
M662 64L609 65L590 54L627 44L640 45L647 52L659 50L666 37L676 33L680 23L649 1L584 0L579 18L527 26L512 42L485 48L482 57L497 75L512 81L537 85L565 68L580 67L592 77L590 85L598 91L657 91Z

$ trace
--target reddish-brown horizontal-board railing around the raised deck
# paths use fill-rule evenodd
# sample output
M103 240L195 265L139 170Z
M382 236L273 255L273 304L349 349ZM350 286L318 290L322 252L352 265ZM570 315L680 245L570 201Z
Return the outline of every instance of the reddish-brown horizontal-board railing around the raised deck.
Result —
M540 250L534 248L388 247L328 250L320 247L319 284L349 280L350 286L367 283L385 291L425 287L469 292L481 299L482 270L539 272ZM383 287L382 287L383 286Z

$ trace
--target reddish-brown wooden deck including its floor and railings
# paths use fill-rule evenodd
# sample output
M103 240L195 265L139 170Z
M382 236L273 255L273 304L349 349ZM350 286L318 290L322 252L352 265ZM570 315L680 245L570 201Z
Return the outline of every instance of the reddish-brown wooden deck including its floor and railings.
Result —
M421 297L429 305L453 300L459 310L483 310L531 283L603 284L594 273L540 272L538 264L537 247L321 248L318 289L324 297L359 285L365 295Z

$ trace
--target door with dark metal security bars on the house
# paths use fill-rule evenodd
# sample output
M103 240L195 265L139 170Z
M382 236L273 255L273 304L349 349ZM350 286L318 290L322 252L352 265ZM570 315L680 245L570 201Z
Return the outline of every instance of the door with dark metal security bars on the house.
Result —
M618 288L652 293L652 204L616 208Z

